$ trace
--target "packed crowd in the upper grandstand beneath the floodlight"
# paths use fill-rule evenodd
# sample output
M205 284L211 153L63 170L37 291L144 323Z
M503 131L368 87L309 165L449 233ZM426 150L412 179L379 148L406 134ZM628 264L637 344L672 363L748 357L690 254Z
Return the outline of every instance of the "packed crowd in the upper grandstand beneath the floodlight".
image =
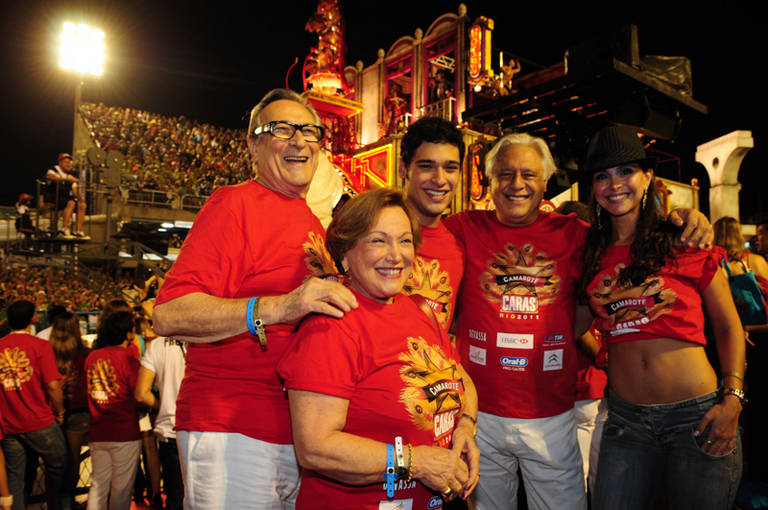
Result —
M131 189L205 196L251 176L242 130L102 103L80 113L99 147L123 153Z

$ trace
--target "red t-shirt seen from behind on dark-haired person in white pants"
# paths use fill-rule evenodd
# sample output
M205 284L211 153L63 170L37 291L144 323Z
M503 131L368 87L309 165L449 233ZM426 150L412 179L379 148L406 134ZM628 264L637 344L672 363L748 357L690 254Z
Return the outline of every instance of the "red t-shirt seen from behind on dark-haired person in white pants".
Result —
M122 345L96 349L85 360L90 441L135 441L141 437L133 390L139 362Z

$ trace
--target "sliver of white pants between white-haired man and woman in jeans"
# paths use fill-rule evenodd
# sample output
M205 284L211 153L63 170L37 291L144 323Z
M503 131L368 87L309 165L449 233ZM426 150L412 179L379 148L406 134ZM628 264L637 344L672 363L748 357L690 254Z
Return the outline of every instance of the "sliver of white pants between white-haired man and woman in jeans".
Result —
M576 418L576 437L579 439L581 463L584 466L584 483L594 490L597 479L597 458L600 456L600 439L603 425L608 418L604 398L577 400L573 405Z

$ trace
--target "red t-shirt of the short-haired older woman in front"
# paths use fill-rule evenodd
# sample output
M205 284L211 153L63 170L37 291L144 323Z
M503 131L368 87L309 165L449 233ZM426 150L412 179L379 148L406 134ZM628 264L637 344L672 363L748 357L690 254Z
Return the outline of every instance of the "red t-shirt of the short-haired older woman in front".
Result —
M383 443L402 436L403 444L450 447L464 384L447 335L438 336L432 318L406 296L382 304L355 295L360 306L343 319L318 315L304 321L278 368L285 387L348 400L344 432ZM389 504L442 508L440 496L419 482L395 485L396 501ZM376 510L387 501L383 480L351 486L307 469L297 508Z

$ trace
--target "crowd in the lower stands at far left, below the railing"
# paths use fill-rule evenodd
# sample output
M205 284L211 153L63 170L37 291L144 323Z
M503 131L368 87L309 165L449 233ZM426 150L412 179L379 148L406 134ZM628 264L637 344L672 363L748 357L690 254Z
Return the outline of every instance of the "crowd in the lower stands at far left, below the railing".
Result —
M80 271L75 275L62 268L15 267L0 260L0 308L26 299L38 310L47 309L52 302L72 311L101 310L110 298L123 295L132 284L131 279L115 280L103 272Z

